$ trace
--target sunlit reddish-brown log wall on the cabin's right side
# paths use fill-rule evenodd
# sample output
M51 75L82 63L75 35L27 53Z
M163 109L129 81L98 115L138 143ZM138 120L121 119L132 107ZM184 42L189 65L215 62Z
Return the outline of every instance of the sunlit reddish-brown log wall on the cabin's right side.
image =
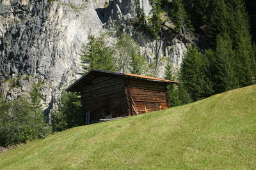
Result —
M127 87L129 87L129 90L126 91L129 91L129 95L133 101L131 103L134 103L136 111L139 114L169 108L166 84L156 81L129 80Z

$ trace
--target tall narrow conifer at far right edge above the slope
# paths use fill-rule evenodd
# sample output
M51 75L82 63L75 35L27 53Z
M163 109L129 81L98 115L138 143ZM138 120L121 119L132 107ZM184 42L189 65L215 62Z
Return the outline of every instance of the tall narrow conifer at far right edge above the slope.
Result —
M255 73L253 71L253 46L250 35L249 17L243 0L230 0L234 11L234 25L232 25L232 39L236 52L237 78L240 87L252 84Z

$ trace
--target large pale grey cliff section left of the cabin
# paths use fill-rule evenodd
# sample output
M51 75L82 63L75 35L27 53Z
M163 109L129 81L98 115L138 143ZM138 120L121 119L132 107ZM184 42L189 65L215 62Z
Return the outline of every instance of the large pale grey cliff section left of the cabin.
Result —
M95 8L93 1L2 1L1 94L19 96L26 84L19 77L31 76L44 84L45 107L56 103L58 92L77 78L81 45L102 31ZM12 88L11 79L19 85Z

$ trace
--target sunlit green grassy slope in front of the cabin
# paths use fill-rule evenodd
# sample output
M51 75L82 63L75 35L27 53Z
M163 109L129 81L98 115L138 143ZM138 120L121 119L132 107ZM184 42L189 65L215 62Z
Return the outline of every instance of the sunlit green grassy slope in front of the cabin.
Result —
M256 85L76 127L0 154L0 169L256 168Z

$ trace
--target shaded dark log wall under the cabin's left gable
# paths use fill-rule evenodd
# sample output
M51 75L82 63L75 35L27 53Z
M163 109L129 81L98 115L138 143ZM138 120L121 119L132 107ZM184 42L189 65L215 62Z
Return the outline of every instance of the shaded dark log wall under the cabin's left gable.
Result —
M90 123L100 118L127 116L127 101L124 93L124 80L111 76L93 78L90 85L81 90L84 113L90 110Z

